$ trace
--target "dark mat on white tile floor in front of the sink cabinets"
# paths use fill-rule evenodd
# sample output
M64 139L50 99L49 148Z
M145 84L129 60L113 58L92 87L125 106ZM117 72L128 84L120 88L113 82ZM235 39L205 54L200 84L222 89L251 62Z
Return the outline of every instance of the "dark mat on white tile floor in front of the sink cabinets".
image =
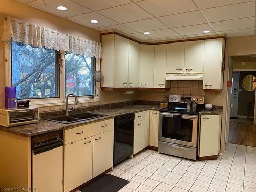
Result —
M117 192L128 183L129 181L120 177L105 174L79 190L81 192Z

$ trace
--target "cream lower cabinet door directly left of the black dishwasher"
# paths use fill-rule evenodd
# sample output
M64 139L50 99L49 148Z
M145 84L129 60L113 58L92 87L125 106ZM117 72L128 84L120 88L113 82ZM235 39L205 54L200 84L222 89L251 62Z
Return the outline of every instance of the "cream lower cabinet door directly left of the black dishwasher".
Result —
M93 136L93 178L113 166L114 130Z

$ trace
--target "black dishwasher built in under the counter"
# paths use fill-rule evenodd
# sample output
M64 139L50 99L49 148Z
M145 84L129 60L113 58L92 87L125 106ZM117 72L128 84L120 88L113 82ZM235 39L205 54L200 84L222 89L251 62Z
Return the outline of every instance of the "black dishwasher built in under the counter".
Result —
M133 154L134 114L115 118L114 123L114 166Z

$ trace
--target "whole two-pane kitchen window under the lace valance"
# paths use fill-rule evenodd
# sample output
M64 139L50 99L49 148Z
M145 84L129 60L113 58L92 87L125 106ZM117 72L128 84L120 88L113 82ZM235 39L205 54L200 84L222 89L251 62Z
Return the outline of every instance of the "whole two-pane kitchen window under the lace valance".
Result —
M8 80L7 85L17 87L17 99L35 99L33 102L36 105L43 105L44 102L54 105L63 103L70 93L80 96L82 102L89 101L88 96L96 95L92 78L96 59L13 41L10 48L11 68L8 73L11 82ZM65 58L65 70L59 67L59 58Z

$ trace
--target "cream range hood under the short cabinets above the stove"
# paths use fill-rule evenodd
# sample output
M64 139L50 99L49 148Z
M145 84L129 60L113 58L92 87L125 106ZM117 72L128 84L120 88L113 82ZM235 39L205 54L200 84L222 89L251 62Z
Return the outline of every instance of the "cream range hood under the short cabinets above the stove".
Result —
M190 80L190 81L202 81L203 73L167 73L166 80Z

